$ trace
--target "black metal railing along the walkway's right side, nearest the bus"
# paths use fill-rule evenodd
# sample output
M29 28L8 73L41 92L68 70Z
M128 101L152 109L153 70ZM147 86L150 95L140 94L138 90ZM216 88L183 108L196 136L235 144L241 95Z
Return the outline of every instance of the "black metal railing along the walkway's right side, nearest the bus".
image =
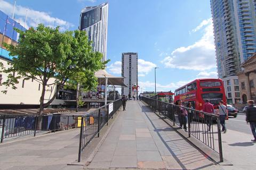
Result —
M220 118L218 115L196 111L195 109L148 97L142 97L141 100L158 112L159 115L171 120L173 125L180 126L180 128L188 133L188 137L192 135L204 143L204 145L217 152L220 162L223 162Z

